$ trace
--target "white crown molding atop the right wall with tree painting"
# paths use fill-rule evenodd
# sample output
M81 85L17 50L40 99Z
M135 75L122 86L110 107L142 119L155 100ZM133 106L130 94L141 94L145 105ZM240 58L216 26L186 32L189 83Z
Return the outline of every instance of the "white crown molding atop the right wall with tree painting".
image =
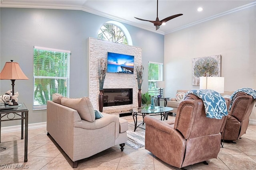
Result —
M252 2L252 3L249 3L249 4L245 4L243 6L239 6L237 8L234 8L234 9L231 9L231 10L228 10L228 11L225 11L225 12L222 12L220 14L216 14L214 16L211 16L211 17L208 17L208 18L205 18L203 20L199 20L199 21L196 21L196 22L192 22L192 23L188 23L182 27L178 27L176 29L172 29L170 31L167 31L165 34L168 34L168 33L173 33L175 31L179 31L181 29L185 29L185 28L188 28L188 27L191 27L193 25L196 25L196 24L199 24L199 23L202 23L202 22L206 22L206 21L209 21L209 20L212 20L214 18L218 18L218 17L221 17L221 16L224 16L224 15L228 15L228 14L231 14L233 12L237 12L237 11L240 11L240 10L244 10L246 8L250 8L252 6L256 6L256 1L255 2Z

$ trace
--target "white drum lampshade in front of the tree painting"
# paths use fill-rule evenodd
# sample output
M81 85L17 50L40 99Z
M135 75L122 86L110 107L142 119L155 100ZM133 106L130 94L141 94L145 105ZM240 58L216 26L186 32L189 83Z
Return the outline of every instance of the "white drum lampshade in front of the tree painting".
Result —
M224 93L224 77L200 77L199 89L210 89Z

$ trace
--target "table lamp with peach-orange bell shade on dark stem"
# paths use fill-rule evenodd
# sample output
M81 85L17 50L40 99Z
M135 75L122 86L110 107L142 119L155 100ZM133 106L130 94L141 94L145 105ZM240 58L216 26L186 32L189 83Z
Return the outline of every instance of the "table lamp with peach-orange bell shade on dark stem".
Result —
M12 82L12 96L14 96L14 82L15 80L28 80L28 77L22 72L20 64L13 62L6 62L4 68L0 73L0 80L11 80ZM12 99L13 106L17 106L18 103Z

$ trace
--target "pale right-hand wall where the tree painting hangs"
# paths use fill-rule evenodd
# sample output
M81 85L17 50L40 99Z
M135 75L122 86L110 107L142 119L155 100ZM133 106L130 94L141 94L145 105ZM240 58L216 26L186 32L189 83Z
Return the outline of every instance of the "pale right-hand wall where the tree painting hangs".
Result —
M165 96L192 86L192 58L222 55L225 91L256 89L256 6L164 36ZM256 109L250 119L256 123Z

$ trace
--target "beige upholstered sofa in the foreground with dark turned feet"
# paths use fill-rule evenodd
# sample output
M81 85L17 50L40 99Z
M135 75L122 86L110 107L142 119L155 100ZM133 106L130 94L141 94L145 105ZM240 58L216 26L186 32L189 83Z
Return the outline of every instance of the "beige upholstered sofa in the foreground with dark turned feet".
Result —
M56 101L47 102L47 135L51 135L66 152L73 161L73 168L77 167L78 160L88 158L115 145L119 144L123 151L128 130L126 120L106 113L102 113L103 117L95 119L95 113L88 98L67 101L64 105L73 104L80 108L63 106L62 99L57 101L60 104ZM84 119L88 117L81 116L81 106L88 107L87 109L90 110L90 115L86 115L90 120L86 121Z

